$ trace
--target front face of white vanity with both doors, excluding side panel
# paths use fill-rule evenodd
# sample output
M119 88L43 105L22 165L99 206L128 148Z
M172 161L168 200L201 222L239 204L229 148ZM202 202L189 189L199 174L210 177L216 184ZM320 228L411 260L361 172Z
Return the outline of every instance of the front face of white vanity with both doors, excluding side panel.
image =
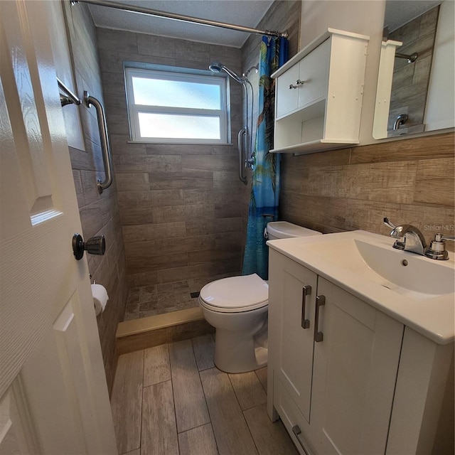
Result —
M308 454L384 454L404 326L269 253L269 414Z

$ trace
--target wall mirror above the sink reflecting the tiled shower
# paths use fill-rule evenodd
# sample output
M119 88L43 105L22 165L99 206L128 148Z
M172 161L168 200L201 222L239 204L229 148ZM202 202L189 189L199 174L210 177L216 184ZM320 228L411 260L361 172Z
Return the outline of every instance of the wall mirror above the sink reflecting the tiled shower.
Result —
M455 126L454 3L387 0L374 139Z

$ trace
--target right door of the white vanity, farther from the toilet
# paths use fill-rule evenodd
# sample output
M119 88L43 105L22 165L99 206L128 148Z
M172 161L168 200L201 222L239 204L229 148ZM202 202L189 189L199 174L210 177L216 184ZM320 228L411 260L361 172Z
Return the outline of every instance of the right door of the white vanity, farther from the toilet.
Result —
M384 454L404 326L319 277L311 442L318 454Z

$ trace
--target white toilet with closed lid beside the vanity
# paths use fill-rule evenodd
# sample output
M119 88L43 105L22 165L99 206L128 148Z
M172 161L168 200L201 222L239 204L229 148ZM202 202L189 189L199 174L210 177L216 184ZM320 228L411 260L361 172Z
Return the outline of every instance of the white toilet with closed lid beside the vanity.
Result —
M265 234L265 233L264 233ZM287 223L267 224L268 240L321 235ZM257 274L218 279L200 289L205 321L215 327L215 365L226 373L244 373L267 365L269 285Z

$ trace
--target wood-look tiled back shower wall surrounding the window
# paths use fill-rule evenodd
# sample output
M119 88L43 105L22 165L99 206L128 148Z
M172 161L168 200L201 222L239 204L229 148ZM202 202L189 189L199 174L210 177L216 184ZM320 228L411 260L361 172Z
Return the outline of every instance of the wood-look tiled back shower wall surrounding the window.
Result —
M241 73L240 49L97 30L107 126L117 177L130 287L240 273L245 186L237 146L129 142L123 62L208 70L221 60ZM242 87L230 82L231 130L242 125Z

